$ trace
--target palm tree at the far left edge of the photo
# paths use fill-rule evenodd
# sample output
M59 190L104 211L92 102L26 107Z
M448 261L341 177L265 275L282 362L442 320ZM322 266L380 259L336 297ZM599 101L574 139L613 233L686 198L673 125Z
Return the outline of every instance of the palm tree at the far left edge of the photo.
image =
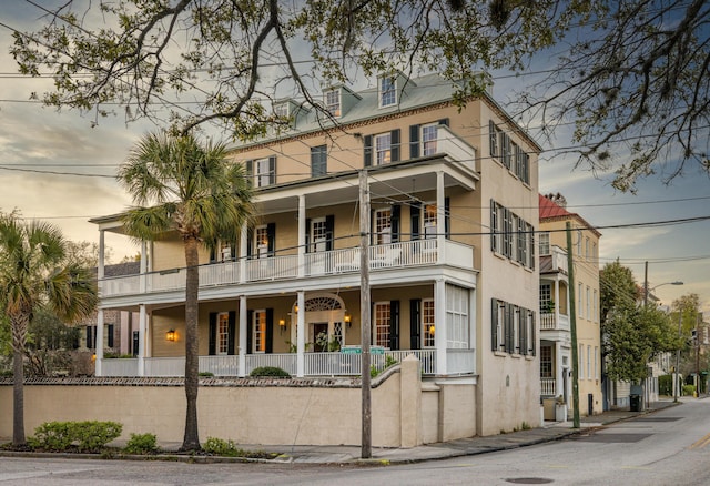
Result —
M12 334L12 443L26 444L23 360L32 313L45 306L67 322L93 313L95 277L75 263L65 263L61 232L48 223L0 217L0 307Z

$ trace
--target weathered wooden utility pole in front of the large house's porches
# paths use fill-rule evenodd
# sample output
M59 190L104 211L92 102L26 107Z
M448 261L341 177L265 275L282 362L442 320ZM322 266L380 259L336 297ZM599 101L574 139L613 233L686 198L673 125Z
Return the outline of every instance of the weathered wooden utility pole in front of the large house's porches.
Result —
M359 172L359 326L363 367L362 384L362 427L361 457L372 457L372 402L369 389L369 341L371 341L371 302L369 302L369 191L367 189L367 169Z

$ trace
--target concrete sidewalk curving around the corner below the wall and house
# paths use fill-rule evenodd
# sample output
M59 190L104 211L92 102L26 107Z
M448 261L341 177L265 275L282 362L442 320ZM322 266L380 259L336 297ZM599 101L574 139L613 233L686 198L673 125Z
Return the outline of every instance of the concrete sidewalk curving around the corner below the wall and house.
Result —
M471 456L477 454L507 450L582 433L584 431L601 427L627 418L646 415L676 404L672 399L652 403L643 412L609 411L599 415L580 418L580 428L572 428L571 422L546 422L541 428L518 431L509 434L487 437L470 437L438 444L427 444L413 448L375 448L372 459L383 464L406 464L424 460L445 459L449 457ZM293 463L338 464L362 460L359 446L245 446L244 449L281 452L281 460Z

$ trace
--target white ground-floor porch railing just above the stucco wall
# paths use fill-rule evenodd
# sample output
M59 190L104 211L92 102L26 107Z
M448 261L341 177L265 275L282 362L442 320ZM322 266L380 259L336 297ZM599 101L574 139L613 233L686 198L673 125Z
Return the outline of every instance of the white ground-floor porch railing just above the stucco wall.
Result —
M436 350L385 351L384 354L372 354L372 364L377 369L385 367L387 356L402 362L414 354L422 363L422 374L436 375ZM214 376L247 376L260 366L277 366L291 375L296 375L295 353L285 354L247 354L246 368L240 369L240 356L200 356L200 373L212 373ZM146 357L144 369L140 372L138 358L104 358L101 362L102 376L184 376L185 358ZM475 350L447 350L447 373L449 375L468 375L476 371ZM362 373L362 355L355 353L305 353L305 376L359 376Z

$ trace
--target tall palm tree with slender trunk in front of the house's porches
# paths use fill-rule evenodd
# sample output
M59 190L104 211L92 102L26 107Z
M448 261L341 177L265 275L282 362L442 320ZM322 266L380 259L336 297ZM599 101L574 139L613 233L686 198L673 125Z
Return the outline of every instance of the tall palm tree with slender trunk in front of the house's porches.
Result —
M252 188L223 144L201 145L191 134L148 134L119 169L118 179L138 206L123 216L125 232L153 241L176 231L185 250L185 396L182 450L200 449L197 434L197 272L201 244L236 242L251 217Z

